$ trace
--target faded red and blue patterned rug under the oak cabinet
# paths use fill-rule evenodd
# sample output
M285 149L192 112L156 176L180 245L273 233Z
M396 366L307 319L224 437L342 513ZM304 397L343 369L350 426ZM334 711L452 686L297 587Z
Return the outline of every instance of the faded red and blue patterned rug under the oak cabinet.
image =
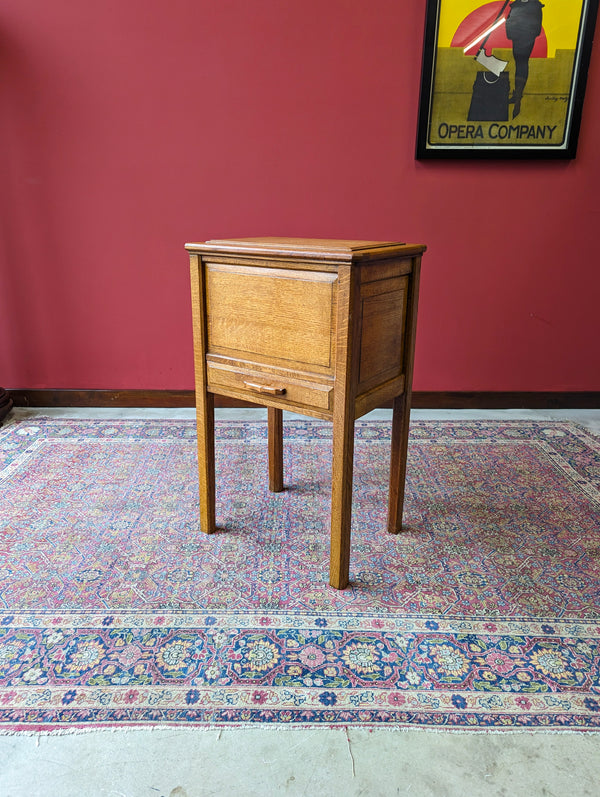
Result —
M0 727L600 729L600 441L567 423L417 422L407 529L390 426L356 428L351 587L327 584L331 426L0 429Z

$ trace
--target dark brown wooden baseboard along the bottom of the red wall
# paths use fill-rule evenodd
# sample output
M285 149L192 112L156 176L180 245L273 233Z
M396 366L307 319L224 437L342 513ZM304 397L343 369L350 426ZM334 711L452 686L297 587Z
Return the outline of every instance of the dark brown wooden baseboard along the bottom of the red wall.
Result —
M9 390L7 392L15 407L194 406L193 390ZM217 396L215 404L217 407L255 406L223 396ZM415 409L600 409L600 392L415 391L412 406Z

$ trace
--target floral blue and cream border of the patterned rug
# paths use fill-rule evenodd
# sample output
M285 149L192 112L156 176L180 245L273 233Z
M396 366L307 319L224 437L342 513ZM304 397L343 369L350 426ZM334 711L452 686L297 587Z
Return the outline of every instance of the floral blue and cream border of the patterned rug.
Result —
M182 439L195 435L193 423L182 421L36 418L21 422L24 445L5 454L5 476L31 451L27 429L45 424L79 436L102 425L108 440L124 432L152 437L157 426ZM0 430L0 443L13 426ZM379 421L356 426L360 439L389 434ZM217 424L217 439L235 438L242 427L266 437L260 422L228 421ZM330 436L329 426L312 421L292 422L288 435L298 440L317 427ZM600 479L582 475L577 451L552 446L553 435L568 433L600 453L600 441L574 424L425 421L411 427L421 442L455 433L461 442L470 434L483 442L486 430L496 443L547 430L548 442L536 444L588 498L598 499ZM0 733L257 724L600 730L600 621L320 611L4 612L0 659L4 655L8 681L10 645L13 652L19 648L19 664L30 656L31 667L23 675L26 686L7 683L0 690ZM89 673L101 657L107 667L94 679ZM148 666L136 672L140 662ZM50 663L52 684L44 680ZM111 681L111 666L126 682Z

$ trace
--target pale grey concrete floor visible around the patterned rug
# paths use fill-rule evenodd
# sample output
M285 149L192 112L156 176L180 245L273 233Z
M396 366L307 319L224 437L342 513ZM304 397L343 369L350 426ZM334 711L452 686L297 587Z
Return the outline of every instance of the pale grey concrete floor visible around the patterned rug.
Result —
M16 410L12 417L193 418L191 410ZM261 410L218 411L263 417ZM377 411L371 417L389 417ZM414 411L413 417L570 419L600 410ZM600 733L237 729L0 736L0 797L597 797Z

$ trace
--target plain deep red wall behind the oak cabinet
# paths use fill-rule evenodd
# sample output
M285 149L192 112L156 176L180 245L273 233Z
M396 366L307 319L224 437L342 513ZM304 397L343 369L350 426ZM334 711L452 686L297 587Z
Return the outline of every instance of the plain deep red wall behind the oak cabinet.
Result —
M428 244L417 390L600 390L575 161L416 162L424 0L4 0L0 384L193 385L190 240Z

